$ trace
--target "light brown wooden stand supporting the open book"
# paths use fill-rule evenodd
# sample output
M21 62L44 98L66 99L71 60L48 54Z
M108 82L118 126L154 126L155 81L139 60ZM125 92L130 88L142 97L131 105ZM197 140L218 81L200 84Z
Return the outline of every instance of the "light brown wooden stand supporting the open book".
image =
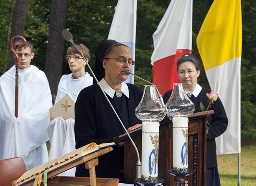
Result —
M94 153L91 153L87 156L84 156L80 159L77 159L73 162L70 162L69 164L66 164L65 166L59 167L57 169L54 169L52 171L49 171L47 174L47 185L53 186L101 186L101 185L110 185L110 186L117 186L119 179L112 179L112 178L96 178L95 174L95 166L98 165L98 157L101 155L104 155L110 151L112 151L112 147L104 148L100 151L96 151ZM56 176L59 173L62 173L66 170L69 170L71 168L74 168L80 164L85 163L85 168L89 168L90 171L90 177L65 177L65 176ZM17 180L13 181L11 183L12 186L15 186L15 182ZM34 180L26 182L25 184L22 184L22 186L33 186ZM41 183L41 186L43 186L43 182Z

